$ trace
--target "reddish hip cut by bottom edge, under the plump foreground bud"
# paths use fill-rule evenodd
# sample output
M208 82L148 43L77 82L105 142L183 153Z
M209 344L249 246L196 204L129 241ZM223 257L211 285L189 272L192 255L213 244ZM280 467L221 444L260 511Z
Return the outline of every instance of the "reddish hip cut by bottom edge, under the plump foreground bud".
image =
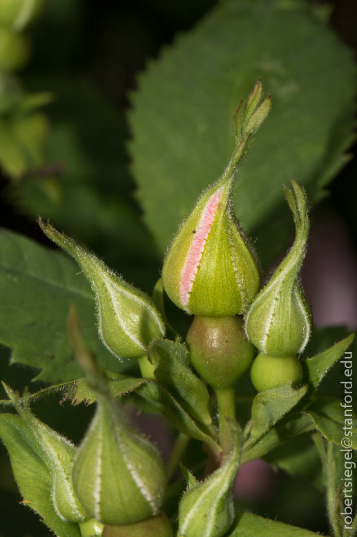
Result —
M164 512L142 522L121 526L104 526L102 537L172 537L173 529Z

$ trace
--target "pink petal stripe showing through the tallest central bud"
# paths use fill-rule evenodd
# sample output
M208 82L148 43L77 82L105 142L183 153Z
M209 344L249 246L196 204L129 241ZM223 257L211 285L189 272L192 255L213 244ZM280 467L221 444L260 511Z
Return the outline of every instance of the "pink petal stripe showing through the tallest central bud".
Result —
M195 275L197 274L198 266L200 265L201 257L204 251L204 244L209 236L209 231L211 230L218 206L220 204L222 190L223 187L212 194L207 202L206 207L202 212L200 224L198 224L197 228L195 229L189 255L187 255L184 268L182 269L180 296L182 304L185 306L189 304L190 293L193 282L195 281Z

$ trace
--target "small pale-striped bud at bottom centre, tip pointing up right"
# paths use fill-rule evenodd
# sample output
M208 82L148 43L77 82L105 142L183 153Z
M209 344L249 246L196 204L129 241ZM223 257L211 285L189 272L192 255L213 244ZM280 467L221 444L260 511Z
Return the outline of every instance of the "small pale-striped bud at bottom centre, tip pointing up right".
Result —
M229 529L234 518L231 486L238 471L239 453L238 442L233 442L224 464L204 482L189 486L179 505L177 537L222 537Z

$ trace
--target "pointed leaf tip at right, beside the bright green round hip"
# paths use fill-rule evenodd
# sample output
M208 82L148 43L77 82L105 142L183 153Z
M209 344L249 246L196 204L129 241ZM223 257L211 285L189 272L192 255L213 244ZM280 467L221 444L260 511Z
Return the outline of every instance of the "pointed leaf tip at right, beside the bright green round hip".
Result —
M309 384L316 389L327 372L331 369L338 358L342 356L349 345L351 345L354 340L354 334L348 336L348 338L335 343L330 349L313 356L312 358L307 358L307 360L302 361L302 367L304 370L308 370L308 376L306 380L309 381Z

